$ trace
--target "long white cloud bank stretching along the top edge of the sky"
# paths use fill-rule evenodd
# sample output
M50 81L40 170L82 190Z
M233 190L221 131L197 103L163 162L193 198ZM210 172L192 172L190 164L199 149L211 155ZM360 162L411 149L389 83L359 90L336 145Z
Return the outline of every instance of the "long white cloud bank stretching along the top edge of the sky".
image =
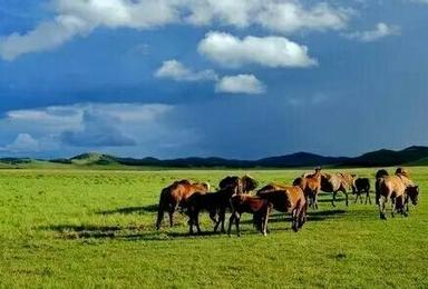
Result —
M271 31L342 29L349 10L325 2L304 7L296 0L52 0L54 19L25 32L0 38L6 60L30 52L51 50L98 27L149 29L172 23L218 23L245 28L261 26Z

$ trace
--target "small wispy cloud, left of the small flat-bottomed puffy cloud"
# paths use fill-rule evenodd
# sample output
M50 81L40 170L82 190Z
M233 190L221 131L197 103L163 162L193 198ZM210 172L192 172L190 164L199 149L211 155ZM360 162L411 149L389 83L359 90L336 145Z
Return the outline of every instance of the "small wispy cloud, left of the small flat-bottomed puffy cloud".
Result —
M217 74L211 70L192 71L177 60L164 61L160 68L155 72L157 78L171 78L176 81L204 81L217 80Z

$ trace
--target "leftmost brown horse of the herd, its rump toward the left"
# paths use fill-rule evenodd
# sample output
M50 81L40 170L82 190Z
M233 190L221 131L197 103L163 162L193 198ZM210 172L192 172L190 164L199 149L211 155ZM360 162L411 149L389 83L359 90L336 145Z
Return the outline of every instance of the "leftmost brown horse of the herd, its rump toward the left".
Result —
M164 219L164 212L169 215L169 226L173 227L173 216L178 207L185 208L188 198L196 191L205 193L210 190L210 183L192 183L188 180L175 181L160 192L159 205L157 207L156 229L160 229Z

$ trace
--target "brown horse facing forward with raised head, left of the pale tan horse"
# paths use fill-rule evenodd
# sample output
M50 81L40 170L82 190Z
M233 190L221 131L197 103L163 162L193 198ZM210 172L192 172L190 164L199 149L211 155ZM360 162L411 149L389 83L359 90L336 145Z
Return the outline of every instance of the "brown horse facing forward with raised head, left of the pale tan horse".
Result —
M315 168L315 172L304 173L293 181L293 186L299 186L313 209L318 209L318 196L321 190L321 168Z

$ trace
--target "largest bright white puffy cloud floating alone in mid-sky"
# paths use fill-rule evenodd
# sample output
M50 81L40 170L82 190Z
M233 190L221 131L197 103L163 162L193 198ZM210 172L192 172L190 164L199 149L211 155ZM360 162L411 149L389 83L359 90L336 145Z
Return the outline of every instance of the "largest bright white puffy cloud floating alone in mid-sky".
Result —
M311 67L317 60L308 56L308 48L284 37L245 37L208 32L198 44L201 54L225 67L246 63L278 67Z

